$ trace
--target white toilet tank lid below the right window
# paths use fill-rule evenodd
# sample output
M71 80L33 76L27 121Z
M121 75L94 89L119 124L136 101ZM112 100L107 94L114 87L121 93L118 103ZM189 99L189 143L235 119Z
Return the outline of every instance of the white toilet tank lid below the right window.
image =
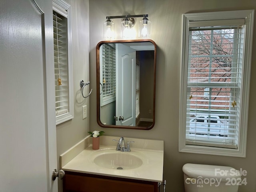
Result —
M182 170L191 178L241 178L240 170L229 166L187 163L184 164Z

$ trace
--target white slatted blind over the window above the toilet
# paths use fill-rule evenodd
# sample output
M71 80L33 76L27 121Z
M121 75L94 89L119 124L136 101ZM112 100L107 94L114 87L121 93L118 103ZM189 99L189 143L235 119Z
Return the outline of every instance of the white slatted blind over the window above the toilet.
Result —
M238 148L241 26L190 27L186 144Z

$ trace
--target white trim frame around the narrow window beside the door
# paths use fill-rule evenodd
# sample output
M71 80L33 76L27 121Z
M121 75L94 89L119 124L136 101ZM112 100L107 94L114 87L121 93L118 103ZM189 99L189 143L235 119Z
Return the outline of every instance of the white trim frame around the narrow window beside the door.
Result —
M67 67L68 67L68 112L56 115L56 125L74 118L73 100L73 72L72 72L72 49L71 49L71 6L63 0L52 0L52 9L67 18Z

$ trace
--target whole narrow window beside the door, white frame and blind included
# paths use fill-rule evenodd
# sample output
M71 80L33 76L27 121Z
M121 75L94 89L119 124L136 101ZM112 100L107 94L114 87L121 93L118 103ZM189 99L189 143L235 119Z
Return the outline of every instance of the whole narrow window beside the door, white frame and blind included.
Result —
M53 0L56 124L73 118L70 5Z

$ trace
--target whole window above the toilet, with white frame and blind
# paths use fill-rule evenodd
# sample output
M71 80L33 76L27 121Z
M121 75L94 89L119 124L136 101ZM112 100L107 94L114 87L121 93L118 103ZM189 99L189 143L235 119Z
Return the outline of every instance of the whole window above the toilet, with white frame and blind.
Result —
M180 152L245 157L253 15L183 15Z

